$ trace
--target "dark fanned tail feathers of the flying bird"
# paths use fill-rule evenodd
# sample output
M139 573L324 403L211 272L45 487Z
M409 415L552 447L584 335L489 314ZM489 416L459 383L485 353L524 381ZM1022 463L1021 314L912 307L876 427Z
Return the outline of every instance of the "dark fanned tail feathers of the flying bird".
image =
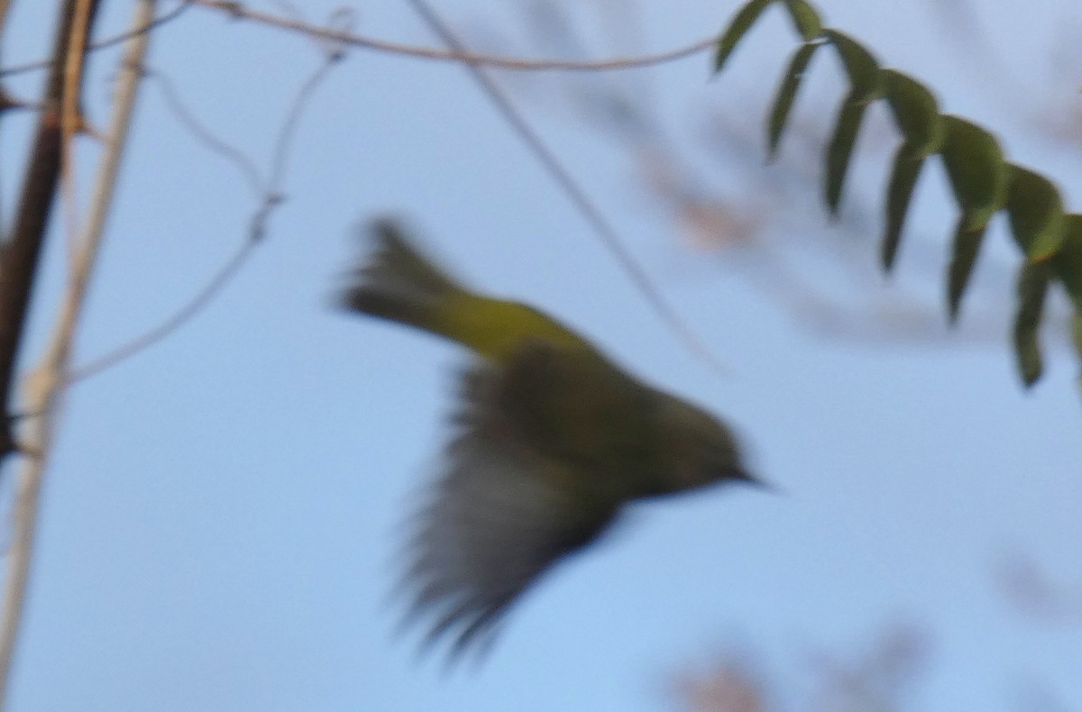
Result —
M445 312L469 292L418 252L401 226L380 219L371 227L375 249L351 275L342 304L352 311L447 333Z

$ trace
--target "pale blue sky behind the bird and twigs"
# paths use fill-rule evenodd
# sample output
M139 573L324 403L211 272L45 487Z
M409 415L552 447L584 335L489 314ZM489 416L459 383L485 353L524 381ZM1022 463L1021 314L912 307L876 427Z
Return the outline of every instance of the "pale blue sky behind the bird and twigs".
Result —
M998 131L1077 210L1079 143L1042 139L1032 116L1044 103L1078 110L1082 60L1068 56L1073 74L1064 76L1048 58L1065 27L1079 28L1077 9L1028 3L1042 19L1020 32L1016 3L981 3L1008 77L974 61L976 50L952 51L932 3L911 4L822 3L884 63L949 97L945 110ZM318 18L330 6L304 11ZM437 6L473 36L505 32L503 49L515 49L517 5ZM731 9L672 0L644 11L646 42L698 39ZM48 11L15 4L4 64L41 56ZM127 13L108 3L100 32L121 28ZM360 6L357 29L434 43L405 3ZM748 171L767 170L761 162L718 167L697 141L713 116L762 120L791 44L775 16L720 80L705 81L705 56L647 75L704 194L738 206L769 198L747 194L760 180ZM101 55L87 85L102 124L114 60ZM265 167L318 54L303 38L197 8L157 35L150 63L203 123ZM829 64L815 69L815 85L836 91ZM10 88L32 95L34 82L13 78ZM1000 556L1022 552L1056 580L1082 580L1078 366L1054 346L1044 380L1028 393L1018 385L1006 338L1012 287L994 279L1016 259L1002 228L981 264L992 277L967 303L977 326L952 339L936 320L919 342L863 339L860 329L824 337L799 308L806 304L766 286L793 273L840 289L847 307L896 304L938 319L937 240L953 222L940 180L922 184L913 232L927 239L903 247L896 279L876 272L878 227L850 250L810 188L806 205L786 206L799 216L770 215L765 243L796 255L789 273L770 273L777 263L756 262L755 248L688 249L620 144L549 101L558 96L552 77L511 85L729 374L672 334L465 72L351 52L305 110L288 201L239 276L172 338L69 394L11 709L672 709L674 671L736 651L776 682L783 709L810 710L808 651L859 657L898 621L931 640L913 709L1032 709L1019 700L1034 689L1082 707L1078 623L1028 620L993 579ZM797 115L802 106L815 119L833 100L808 91ZM5 216L29 126L5 117L0 131ZM859 151L854 195L874 206L882 167ZM93 156L89 143L79 151L83 186ZM77 360L189 299L241 242L253 209L239 173L148 84ZM353 226L387 211L408 216L474 284L558 315L635 373L731 419L782 493L718 489L637 506L618 536L530 592L483 665L448 675L419 659L415 635L395 630L396 552L410 502L437 470L464 355L330 307L357 254ZM63 235L53 238L35 303L38 346L63 280ZM843 274L859 275L857 287L830 269L850 252L862 256Z

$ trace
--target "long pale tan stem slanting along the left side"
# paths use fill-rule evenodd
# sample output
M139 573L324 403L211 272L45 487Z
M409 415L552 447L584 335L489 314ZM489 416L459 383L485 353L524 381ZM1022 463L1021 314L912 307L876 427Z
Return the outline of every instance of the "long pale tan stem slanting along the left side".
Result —
M154 0L141 0L135 9L134 23L143 25L154 16ZM34 535L41 482L52 451L53 436L60 416L57 407L64 393L65 370L71 353L82 312L87 287L101 246L105 219L116 187L117 173L128 136L132 109L141 72L138 70L146 55L149 36L138 34L130 40L124 66L117 84L116 104L109 128L109 142L95 180L90 214L79 241L78 259L72 264L70 281L61 306L61 312L41 364L27 378L27 408L36 413L26 427L23 448L27 454L15 492L13 513L13 540L8 552L8 570L4 577L3 620L0 629L0 704L6 704L11 665L23 620L30 562L34 553Z

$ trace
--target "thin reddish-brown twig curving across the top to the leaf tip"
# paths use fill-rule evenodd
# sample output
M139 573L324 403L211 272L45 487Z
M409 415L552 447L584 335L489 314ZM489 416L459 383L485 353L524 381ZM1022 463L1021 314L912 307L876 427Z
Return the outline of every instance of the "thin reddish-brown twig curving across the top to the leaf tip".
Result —
M353 47L360 47L369 50L380 50L383 52L392 52L395 54L404 54L412 57L421 57L424 60L440 60L444 62L453 62L456 64L466 63L478 66L486 66L499 69L515 69L518 71L551 71L551 70L565 70L565 71L603 71L611 69L633 69L636 67L649 67L657 64L664 64L667 62L672 62L674 60L682 60L684 57L691 56L694 54L699 54L711 49L717 42L717 36L710 36L692 42L686 47L677 48L675 50L669 50L667 52L659 52L657 54L642 54L630 57L615 57L611 60L597 60L594 62L575 62L570 60L530 60L524 57L510 57L497 54L481 54L476 52L466 52L464 50L452 50L450 52L446 50L436 50L425 47L417 47L414 44L405 44L401 42L391 42L388 40L378 40L370 37L361 37L353 32L341 31L335 29L330 29L327 27L319 27L316 25L309 25L296 19L290 19L289 17L282 17L280 15L273 15L270 13L260 12L258 10L251 10L249 8L242 6L238 2L230 2L229 0L185 0L192 4L201 5L203 8L211 8L213 10L220 10L230 17L238 19L251 19L253 22L262 23L272 27L277 27L279 29L288 29L294 32L302 32L312 37L321 37L334 42L341 42L342 44L348 44Z

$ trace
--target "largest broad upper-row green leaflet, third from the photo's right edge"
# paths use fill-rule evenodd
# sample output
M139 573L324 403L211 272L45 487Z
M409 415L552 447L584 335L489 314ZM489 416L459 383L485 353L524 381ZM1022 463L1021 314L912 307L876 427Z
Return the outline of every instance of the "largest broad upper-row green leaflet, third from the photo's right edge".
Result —
M944 166L969 229L984 227L1006 202L1008 171L1003 149L988 131L956 116L942 116Z

